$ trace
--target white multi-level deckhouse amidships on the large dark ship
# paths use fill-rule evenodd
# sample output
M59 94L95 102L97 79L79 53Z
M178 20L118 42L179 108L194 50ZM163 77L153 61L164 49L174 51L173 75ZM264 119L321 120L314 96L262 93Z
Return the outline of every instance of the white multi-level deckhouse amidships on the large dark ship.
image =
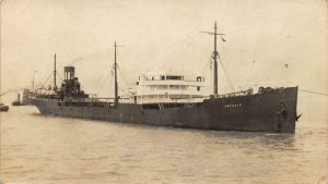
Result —
M174 72L147 72L129 89L127 98L132 103L188 103L204 98L204 77L187 79Z

